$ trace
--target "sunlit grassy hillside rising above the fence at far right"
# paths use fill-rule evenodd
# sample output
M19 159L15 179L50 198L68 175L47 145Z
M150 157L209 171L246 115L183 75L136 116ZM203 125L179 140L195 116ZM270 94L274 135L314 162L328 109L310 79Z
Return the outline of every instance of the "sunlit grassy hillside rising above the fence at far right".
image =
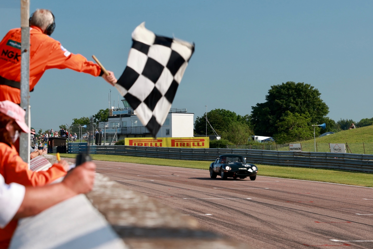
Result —
M303 141L302 143L313 143L312 140ZM335 134L316 138L318 143L373 143L373 125L357 129L342 130Z

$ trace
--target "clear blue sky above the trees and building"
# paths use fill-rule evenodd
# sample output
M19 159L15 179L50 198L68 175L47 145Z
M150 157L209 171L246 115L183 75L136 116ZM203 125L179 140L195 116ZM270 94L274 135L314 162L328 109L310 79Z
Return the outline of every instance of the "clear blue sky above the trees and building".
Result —
M18 3L0 0L1 36L20 26ZM37 8L56 16L51 37L72 53L95 54L117 78L143 21L156 34L195 42L172 105L195 117L205 105L249 114L286 81L319 89L336 121L373 117L373 1L31 0L30 12ZM110 89L117 105L116 89L100 77L47 70L31 92L32 126L91 116L109 106Z

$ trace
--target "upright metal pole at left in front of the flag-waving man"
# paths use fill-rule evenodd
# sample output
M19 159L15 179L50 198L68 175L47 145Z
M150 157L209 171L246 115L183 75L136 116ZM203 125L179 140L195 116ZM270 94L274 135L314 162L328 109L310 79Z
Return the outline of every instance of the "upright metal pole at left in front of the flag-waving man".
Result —
M21 107L26 111L25 121L31 126L30 118L30 2L21 0ZM21 132L19 155L30 164L30 133Z

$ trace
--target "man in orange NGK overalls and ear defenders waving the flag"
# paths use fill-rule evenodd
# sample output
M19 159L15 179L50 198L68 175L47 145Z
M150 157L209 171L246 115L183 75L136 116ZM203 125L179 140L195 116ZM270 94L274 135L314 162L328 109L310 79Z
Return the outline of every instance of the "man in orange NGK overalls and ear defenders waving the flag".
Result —
M102 76L114 85L111 71L103 74L100 66L80 54L72 54L59 41L49 37L56 26L50 10L37 9L30 18L30 91L47 69L70 68L78 72ZM11 29L0 42L0 101L21 103L21 28Z

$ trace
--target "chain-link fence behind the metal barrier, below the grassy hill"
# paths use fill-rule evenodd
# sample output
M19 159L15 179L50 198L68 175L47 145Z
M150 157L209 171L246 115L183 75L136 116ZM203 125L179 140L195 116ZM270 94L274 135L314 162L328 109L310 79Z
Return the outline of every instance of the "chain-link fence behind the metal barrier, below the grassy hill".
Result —
M302 143L301 143L302 144ZM346 152L354 154L373 154L373 143L345 143ZM227 145L228 149L261 149L270 151L289 151L289 144L265 144L263 145ZM314 152L313 143L302 144L302 151ZM330 152L329 143L316 143L316 152Z

